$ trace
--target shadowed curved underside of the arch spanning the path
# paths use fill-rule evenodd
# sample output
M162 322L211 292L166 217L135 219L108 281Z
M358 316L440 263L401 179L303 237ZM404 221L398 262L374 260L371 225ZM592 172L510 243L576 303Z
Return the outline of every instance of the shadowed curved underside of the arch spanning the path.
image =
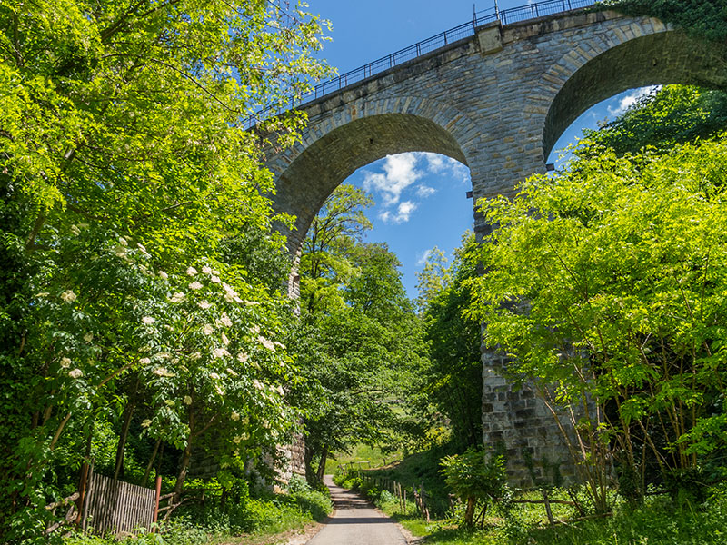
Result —
M412 114L379 114L356 119L311 144L275 183L278 212L295 216L288 246L295 253L328 195L356 169L390 154L432 152L466 164L452 134Z

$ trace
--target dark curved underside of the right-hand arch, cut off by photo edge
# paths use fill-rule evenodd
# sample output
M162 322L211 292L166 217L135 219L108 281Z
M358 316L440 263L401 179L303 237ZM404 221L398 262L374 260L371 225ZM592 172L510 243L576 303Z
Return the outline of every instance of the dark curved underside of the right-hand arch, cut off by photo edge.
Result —
M727 88L723 45L668 31L635 38L609 49L577 70L555 96L545 120L544 155L593 105L623 91L657 84Z

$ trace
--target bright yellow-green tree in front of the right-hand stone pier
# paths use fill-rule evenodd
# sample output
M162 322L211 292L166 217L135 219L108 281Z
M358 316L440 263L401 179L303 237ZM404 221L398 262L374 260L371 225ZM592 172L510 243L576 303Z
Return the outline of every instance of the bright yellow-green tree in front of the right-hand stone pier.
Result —
M583 154L482 203L500 228L476 254L472 316L513 356L513 379L571 415L594 500L610 448L634 474L640 451L669 474L725 446L725 158L723 137L662 156Z

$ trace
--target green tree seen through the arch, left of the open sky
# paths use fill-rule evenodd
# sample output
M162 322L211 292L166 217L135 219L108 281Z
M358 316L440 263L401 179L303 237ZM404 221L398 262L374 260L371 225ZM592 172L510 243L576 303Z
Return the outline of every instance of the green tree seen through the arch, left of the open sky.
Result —
M295 399L308 408L306 462L319 477L334 451L393 441L386 436L402 424L403 385L421 359L421 330L398 259L383 244L359 240L370 227L364 207L371 203L361 190L336 189L301 258L301 327L289 344L307 380Z

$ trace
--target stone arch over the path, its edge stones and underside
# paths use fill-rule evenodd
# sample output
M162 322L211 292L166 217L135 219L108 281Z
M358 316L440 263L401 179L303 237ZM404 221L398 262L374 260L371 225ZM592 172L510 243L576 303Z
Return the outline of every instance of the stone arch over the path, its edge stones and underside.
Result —
M275 209L295 216L294 229L285 230L290 253L299 252L325 199L356 169L405 152L443 154L467 165L472 145L467 139L475 134L465 115L421 98L368 103L361 110L354 104L330 114L269 163L275 173Z

